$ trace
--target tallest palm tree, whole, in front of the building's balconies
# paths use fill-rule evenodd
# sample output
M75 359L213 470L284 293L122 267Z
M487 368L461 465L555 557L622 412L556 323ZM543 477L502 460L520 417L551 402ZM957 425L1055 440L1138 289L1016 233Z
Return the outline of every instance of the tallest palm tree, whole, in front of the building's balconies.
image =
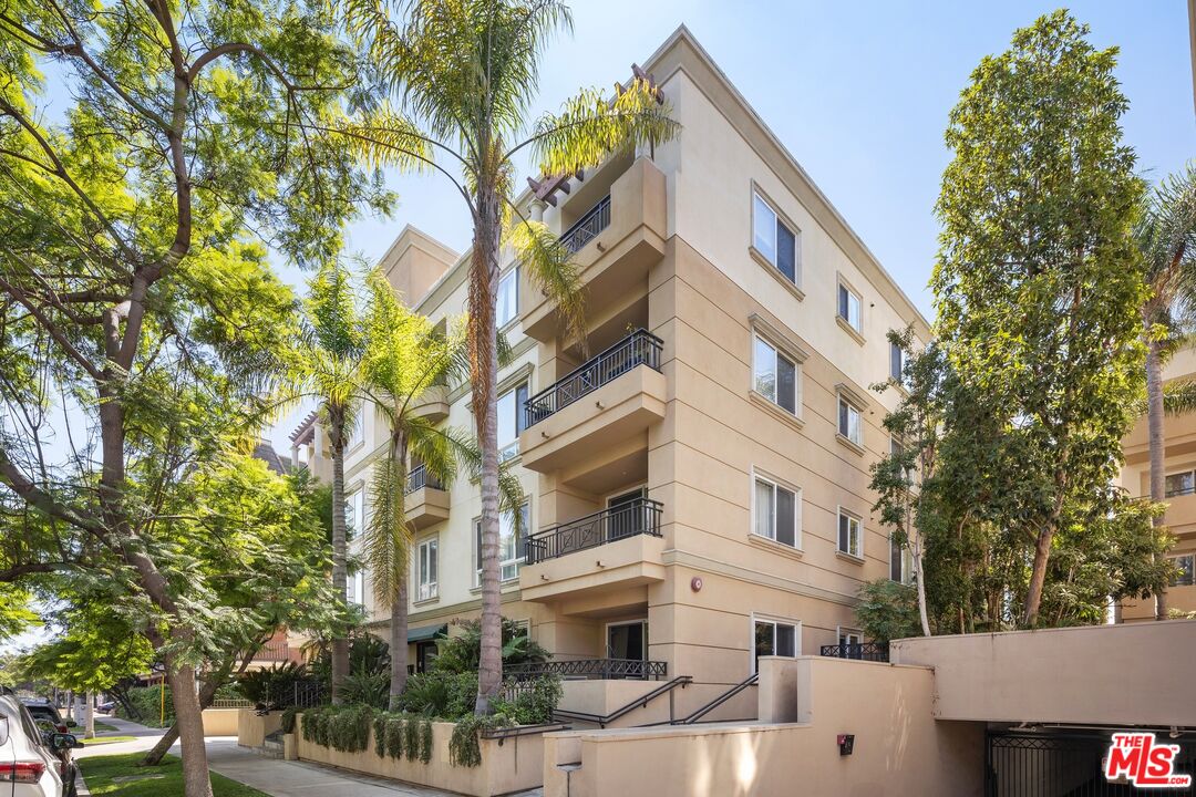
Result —
M346 27L397 100L346 121L340 131L378 165L432 170L456 186L474 225L469 266L471 403L482 449L482 656L476 710L489 712L502 682L499 594L498 333L495 300L504 232L524 274L584 339L572 253L514 203L515 158L544 174L594 167L630 143L671 137L660 92L647 79L614 100L581 91L560 114L530 118L550 37L572 26L559 0L338 0ZM395 19L396 11L402 19ZM527 151L525 153L524 151ZM512 221L514 220L514 225Z

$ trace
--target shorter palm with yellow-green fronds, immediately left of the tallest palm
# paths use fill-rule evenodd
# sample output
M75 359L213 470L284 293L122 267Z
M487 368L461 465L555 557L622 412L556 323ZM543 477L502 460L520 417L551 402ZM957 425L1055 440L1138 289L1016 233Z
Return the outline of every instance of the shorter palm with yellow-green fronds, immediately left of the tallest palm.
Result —
M481 452L468 434L438 428L416 413L419 400L437 385L468 373L464 333L437 335L431 321L408 309L380 270L367 278L365 390L386 423L386 449L374 465L372 511L364 542L374 600L390 609L390 709L407 685L408 563L414 534L407 522L410 464L417 460L432 479L451 486L464 466L477 473ZM523 501L518 480L499 474L500 508L515 511ZM518 516L518 515L517 515Z

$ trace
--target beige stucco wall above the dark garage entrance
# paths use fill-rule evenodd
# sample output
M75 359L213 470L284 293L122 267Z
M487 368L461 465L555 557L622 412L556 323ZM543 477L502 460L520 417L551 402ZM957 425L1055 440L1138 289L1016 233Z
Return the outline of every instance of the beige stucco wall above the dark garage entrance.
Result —
M898 639L944 719L1196 725L1196 620Z

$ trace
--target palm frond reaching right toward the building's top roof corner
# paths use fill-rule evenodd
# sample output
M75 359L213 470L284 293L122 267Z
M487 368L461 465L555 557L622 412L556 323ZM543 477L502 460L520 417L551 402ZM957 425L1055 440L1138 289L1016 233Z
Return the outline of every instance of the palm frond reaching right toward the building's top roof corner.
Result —
M542 173L572 174L597 166L629 143L667 141L679 129L657 88L643 78L633 78L614 100L597 88L581 91L560 114L544 115L526 146Z

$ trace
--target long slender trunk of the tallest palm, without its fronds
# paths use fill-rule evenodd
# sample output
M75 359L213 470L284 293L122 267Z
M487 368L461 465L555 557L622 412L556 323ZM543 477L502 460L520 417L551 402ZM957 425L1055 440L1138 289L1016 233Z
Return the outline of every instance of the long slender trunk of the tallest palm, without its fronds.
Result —
M478 715L502 683L502 607L499 583L498 329L494 302L499 287L499 195L493 184L477 191L469 312L472 337L474 417L482 447L482 650L477 670Z

